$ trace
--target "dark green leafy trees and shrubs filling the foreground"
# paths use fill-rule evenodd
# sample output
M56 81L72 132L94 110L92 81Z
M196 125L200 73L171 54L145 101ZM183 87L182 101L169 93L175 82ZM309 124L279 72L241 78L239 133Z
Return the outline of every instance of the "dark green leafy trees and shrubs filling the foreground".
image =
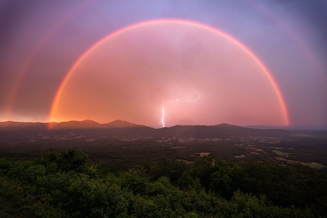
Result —
M97 169L76 147L0 159L0 217L325 217L327 174L272 160Z

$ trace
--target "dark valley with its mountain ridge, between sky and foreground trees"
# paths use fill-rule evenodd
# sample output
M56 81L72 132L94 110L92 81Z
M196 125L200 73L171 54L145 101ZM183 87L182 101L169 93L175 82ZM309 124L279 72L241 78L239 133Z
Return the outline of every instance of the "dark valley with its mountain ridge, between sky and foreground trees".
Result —
M193 162L203 155L233 162L271 159L315 169L327 166L326 131L263 130L229 124L154 129L119 120L105 127L89 120L62 122L53 129L40 123L4 123L0 123L0 155L14 159L40 157L49 147L77 146L100 168L114 165L117 170L140 168L145 161L160 158Z

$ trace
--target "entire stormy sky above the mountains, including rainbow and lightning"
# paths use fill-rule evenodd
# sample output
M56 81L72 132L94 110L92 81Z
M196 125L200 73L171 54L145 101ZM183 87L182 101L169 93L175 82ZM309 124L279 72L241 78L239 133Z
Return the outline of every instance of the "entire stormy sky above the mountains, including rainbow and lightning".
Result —
M326 1L0 1L0 122L327 128Z

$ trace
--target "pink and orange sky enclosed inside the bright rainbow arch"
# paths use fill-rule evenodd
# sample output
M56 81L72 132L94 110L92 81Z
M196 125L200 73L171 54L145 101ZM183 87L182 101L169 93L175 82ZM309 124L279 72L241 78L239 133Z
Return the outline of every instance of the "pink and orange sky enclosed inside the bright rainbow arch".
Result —
M201 98L194 101L198 95L187 89ZM52 120L159 127L163 105L165 126L285 124L271 82L249 54L226 37L179 23L140 26L101 43L70 76Z

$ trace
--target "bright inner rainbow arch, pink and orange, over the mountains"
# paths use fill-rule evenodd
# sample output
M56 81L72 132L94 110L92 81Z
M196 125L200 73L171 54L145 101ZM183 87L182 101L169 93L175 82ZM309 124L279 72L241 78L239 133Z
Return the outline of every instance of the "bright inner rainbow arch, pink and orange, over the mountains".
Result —
M239 42L238 40L236 40L235 38L233 38L232 36L228 35L227 33L224 33L223 31L216 29L212 26L209 25L205 25L205 24L201 24L201 23L197 23L194 21L188 21L188 20L180 20L180 19L161 19L161 20L150 20L150 21L145 21L145 22L141 22L141 23L136 23L136 24L132 24L129 26L126 26L124 28L121 28L115 32L112 32L111 34L105 36L104 38L102 38L101 40L99 40L98 42L96 42L94 45L92 45L88 50L86 50L78 59L77 61L74 63L74 65L70 68L70 70L67 72L67 74L65 75L64 79L62 80L59 89L55 95L55 98L53 100L52 103L52 107L49 113L49 122L54 120L55 117L55 112L58 106L58 102L60 99L60 95L69 79L69 77L73 74L74 70L76 69L76 67L83 61L83 59L85 59L96 47L98 47L99 45L101 45L103 42L105 42L106 40L110 39L113 36L116 36L120 33L123 33L127 30L131 30L134 28L138 28L141 26L145 26L145 25L156 25L156 24L162 24L162 23L172 23L172 24L184 24L184 25L192 25L192 26L196 26L202 29L206 29L208 31L214 32L215 34L218 34L220 36L225 37L227 40L229 40L230 42L236 44L239 48L241 48L243 51L245 51L255 62L256 64L258 64L258 66L262 69L262 71L264 72L264 74L267 76L268 80L270 81L271 85L274 88L274 91L279 99L279 103L280 103L280 107L281 110L283 111L284 114L284 125L288 126L289 123L289 117L288 117L288 113L287 113L287 109L286 109L286 105L284 102L284 98L282 96L282 93L280 91L280 89L277 86L276 81L274 80L274 78L272 77L271 73L268 71L267 67L262 63L262 61L249 49L247 48L244 44L242 44L241 42Z

